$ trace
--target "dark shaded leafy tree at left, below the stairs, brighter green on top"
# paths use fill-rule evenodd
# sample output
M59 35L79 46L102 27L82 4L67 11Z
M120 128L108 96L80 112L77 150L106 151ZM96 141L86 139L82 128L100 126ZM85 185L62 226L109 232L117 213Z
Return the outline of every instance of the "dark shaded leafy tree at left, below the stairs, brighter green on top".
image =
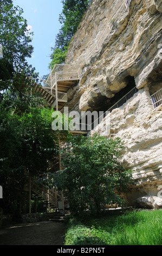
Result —
M0 180L8 211L16 201L15 188L21 192L21 200L29 176L46 174L49 161L59 153L57 133L51 129L52 112L40 108L25 112L0 108Z

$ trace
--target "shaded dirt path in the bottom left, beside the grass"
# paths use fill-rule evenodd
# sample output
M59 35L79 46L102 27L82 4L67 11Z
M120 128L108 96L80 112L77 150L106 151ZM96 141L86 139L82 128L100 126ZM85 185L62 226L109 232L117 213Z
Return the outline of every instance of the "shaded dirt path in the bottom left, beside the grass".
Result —
M0 229L0 245L63 245L65 224L37 222Z

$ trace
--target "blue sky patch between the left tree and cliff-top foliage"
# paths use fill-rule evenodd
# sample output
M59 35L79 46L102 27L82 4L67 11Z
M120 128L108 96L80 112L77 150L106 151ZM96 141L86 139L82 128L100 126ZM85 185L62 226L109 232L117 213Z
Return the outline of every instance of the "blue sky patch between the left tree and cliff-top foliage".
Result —
M34 37L33 57L28 63L36 68L39 76L49 74L51 47L55 45L55 38L61 24L59 14L62 12L61 0L13 0L14 5L20 6L24 13L23 17L28 21L28 26Z

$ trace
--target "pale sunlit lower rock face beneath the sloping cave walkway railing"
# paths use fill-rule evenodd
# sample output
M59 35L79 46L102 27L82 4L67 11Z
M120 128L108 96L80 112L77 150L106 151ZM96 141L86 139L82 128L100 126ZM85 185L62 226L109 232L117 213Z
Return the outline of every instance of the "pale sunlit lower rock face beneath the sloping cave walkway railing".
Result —
M108 114L92 133L102 136L120 137L125 142L122 151L122 164L133 171L136 186L130 188L127 200L130 205L144 206L140 197L158 197L162 185L162 106L153 109L147 89L140 89L121 108ZM106 131L106 120L109 129ZM162 186L161 186L162 190ZM158 200L161 202L162 197ZM155 203L153 203L155 205Z

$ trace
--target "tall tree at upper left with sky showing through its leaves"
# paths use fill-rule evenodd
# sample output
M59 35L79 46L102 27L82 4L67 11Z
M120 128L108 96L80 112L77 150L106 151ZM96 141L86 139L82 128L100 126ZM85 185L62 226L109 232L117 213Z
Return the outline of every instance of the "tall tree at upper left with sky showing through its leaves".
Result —
M33 33L28 31L27 20L22 14L23 10L14 7L11 0L0 2L0 44L3 47L3 56L0 57L0 100L3 100L7 89L22 97L21 86L17 87L17 83L20 84L25 77L28 91L29 87L33 87L30 77L37 77L35 68L27 63L27 58L33 53L33 46L30 45Z

